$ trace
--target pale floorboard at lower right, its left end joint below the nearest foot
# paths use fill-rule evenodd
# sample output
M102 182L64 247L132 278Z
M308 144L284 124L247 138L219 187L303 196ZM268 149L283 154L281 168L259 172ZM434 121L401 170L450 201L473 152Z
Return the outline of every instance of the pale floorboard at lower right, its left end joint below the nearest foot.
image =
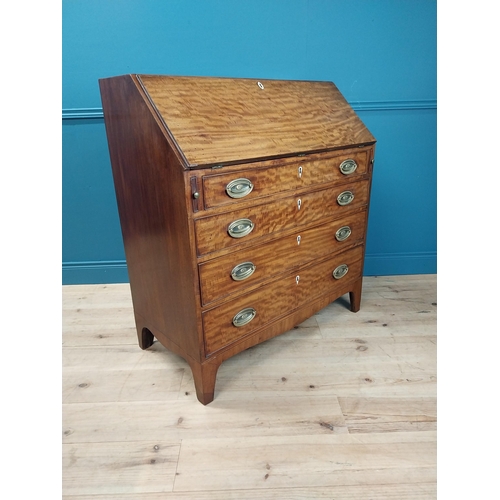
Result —
M432 482L436 433L183 440L176 491ZM410 455L411 467L408 467ZM217 464L215 463L217 462Z

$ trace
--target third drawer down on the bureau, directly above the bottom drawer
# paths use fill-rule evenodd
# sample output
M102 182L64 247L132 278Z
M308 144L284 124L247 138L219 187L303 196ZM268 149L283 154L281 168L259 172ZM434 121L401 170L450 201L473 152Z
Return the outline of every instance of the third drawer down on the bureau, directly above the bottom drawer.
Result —
M361 242L366 217L358 212L200 264L203 305Z

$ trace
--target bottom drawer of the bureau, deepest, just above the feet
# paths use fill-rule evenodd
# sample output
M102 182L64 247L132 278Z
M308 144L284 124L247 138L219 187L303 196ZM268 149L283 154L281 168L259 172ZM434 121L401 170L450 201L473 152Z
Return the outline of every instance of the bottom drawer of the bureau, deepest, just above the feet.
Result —
M342 266L347 266L347 273L334 278L334 271ZM322 294L340 291L361 277L362 267L363 246L360 245L204 312L206 355L265 327Z

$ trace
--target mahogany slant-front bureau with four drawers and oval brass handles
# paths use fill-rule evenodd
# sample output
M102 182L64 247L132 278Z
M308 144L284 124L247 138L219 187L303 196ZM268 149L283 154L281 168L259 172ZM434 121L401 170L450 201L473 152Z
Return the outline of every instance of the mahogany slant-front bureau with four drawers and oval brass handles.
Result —
M349 293L360 307L375 139L331 82L99 80L139 345L227 358Z

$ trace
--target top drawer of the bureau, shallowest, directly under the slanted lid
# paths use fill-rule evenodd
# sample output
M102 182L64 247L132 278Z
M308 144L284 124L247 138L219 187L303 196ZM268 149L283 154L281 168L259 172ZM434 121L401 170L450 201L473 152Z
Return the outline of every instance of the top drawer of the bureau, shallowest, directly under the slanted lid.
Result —
M205 208L283 191L356 178L368 170L368 151L288 165L255 168L203 177Z

